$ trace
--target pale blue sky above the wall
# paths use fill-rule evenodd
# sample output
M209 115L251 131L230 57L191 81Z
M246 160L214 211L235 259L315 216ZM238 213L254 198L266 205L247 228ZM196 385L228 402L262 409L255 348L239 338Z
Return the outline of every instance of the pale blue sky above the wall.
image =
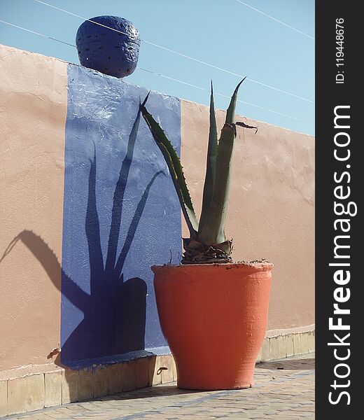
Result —
M85 18L126 18L138 27L142 39L275 87L278 90L246 80L239 99L251 105L239 102L237 113L314 134L314 39L310 38L314 37L314 0L243 2L310 37L258 13L242 0L44 1ZM0 0L0 20L71 44L83 22L34 0ZM1 22L0 43L78 64L76 48ZM228 96L239 81L238 76L144 42L138 66L203 89L141 69L125 80L201 104L209 103L211 78L215 92ZM216 95L215 99L218 108L228 105L228 98Z

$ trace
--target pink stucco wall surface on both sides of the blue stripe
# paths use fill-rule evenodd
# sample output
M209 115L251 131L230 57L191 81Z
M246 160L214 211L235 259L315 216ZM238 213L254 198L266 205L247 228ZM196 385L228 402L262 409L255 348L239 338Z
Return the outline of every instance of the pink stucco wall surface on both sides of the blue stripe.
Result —
M50 363L59 346L66 66L0 45L0 371ZM197 211L208 121L206 106L181 101ZM239 129L226 233L235 260L274 262L268 329L304 330L314 323L314 138L248 123L259 131Z

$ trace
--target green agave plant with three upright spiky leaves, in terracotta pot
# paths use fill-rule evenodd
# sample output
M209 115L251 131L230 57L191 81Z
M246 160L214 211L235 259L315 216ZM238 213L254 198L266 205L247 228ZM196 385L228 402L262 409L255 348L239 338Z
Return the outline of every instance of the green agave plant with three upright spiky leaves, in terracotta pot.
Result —
M224 226L228 210L232 148L237 136L237 126L255 129L255 133L258 131L257 127L242 122L235 123L237 94L244 80L245 78L241 80L232 94L220 139L218 139L216 127L214 92L211 82L209 146L200 223L193 209L179 156L162 127L146 109L149 94L140 106L141 114L151 130L153 139L165 157L190 231L190 237L183 239L185 249L181 261L183 264L231 262L232 240L226 239Z

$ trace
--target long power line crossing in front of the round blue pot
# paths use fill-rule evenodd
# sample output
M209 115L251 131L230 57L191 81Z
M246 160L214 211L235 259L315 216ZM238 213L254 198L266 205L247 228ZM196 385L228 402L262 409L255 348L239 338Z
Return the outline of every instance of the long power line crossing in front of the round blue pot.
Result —
M67 13L68 15L75 16L76 18L80 18L80 19L82 19L82 20L87 20L88 22L92 22L92 23L94 23L94 24L96 24L96 25L99 25L99 26L102 26L102 27L105 27L105 28L111 29L112 31L116 31L116 32L118 32L119 34L123 34L123 35L130 36L130 34L126 34L126 33L125 33L125 32L123 32L123 31L119 31L118 29L114 29L114 28L108 27L108 26L106 26L106 25L102 25L102 24L101 24L101 23L99 23L99 22L94 22L93 20L90 20L90 19L84 18L83 16L76 15L76 13L71 13L71 12L69 12L69 10L65 10L65 9L62 9L62 8L59 8L59 7L53 6L52 4L49 4L49 3L45 3L45 1L41 1L41 0L34 0L34 1L36 1L36 3L41 3L41 4L43 4L44 6L48 6L48 7L50 7L50 8L54 8L54 9L56 9L56 10L59 10L59 11L61 11L61 12L63 12L63 13ZM237 76L237 77L239 77L239 78L244 78L244 76L243 76L243 75L241 75L241 74L239 74L239 73L234 73L233 71L223 69L222 67L215 66L214 64L211 64L211 63L208 63L208 62L204 62L204 61L202 61L201 59L197 59L197 58L195 58L195 57L190 57L190 55L186 55L186 54L183 54L182 52L172 50L172 49L170 49L170 48L164 47L164 46L159 45L159 44L157 44L157 43L153 43L153 42L151 42L151 41L147 41L146 39L142 39L142 38L141 38L141 41L143 41L144 43L147 43L148 45L153 45L153 46L154 46L154 47L156 47L156 48L160 48L161 50L165 50L165 51L168 51L168 52L172 52L172 54L179 55L180 57L184 57L184 58L190 59L190 60L192 60L192 61L194 61L194 62L197 62L197 63L203 64L204 66L209 66L209 67L211 67L212 69L216 69L216 70L219 70L219 71L223 71L223 72L225 72L225 73L231 74L232 76ZM297 99L301 99L302 101L306 101L306 102L310 102L311 104L314 104L314 101L312 101L311 99L307 99L307 98L305 98L305 97L301 97L301 96L299 96L299 95L297 95L297 94L294 94L294 93L292 93L292 92L287 92L286 90L279 89L279 87L274 87L274 86L271 86L271 85L267 85L267 83L262 83L262 82L260 82L259 80L254 80L254 79L252 79L252 78L248 78L248 77L246 78L246 80L250 81L251 83L256 83L257 85L261 85L261 86L264 86L264 87L268 87L269 89L276 90L276 92L281 92L281 93L283 93L283 94L288 94L288 95L289 95L289 96L291 96L291 97L295 97L295 98L297 98Z

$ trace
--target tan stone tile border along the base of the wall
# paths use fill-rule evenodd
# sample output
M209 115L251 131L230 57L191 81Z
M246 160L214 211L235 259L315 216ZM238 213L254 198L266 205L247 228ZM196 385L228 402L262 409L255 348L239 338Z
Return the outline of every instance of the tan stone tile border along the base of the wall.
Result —
M314 331L266 337L257 363L311 351L314 351ZM35 372L35 367L31 367L27 373L14 376L13 371L12 375L0 379L0 416L167 384L176 381L177 372L172 355L164 355L80 370L48 366L46 372Z

